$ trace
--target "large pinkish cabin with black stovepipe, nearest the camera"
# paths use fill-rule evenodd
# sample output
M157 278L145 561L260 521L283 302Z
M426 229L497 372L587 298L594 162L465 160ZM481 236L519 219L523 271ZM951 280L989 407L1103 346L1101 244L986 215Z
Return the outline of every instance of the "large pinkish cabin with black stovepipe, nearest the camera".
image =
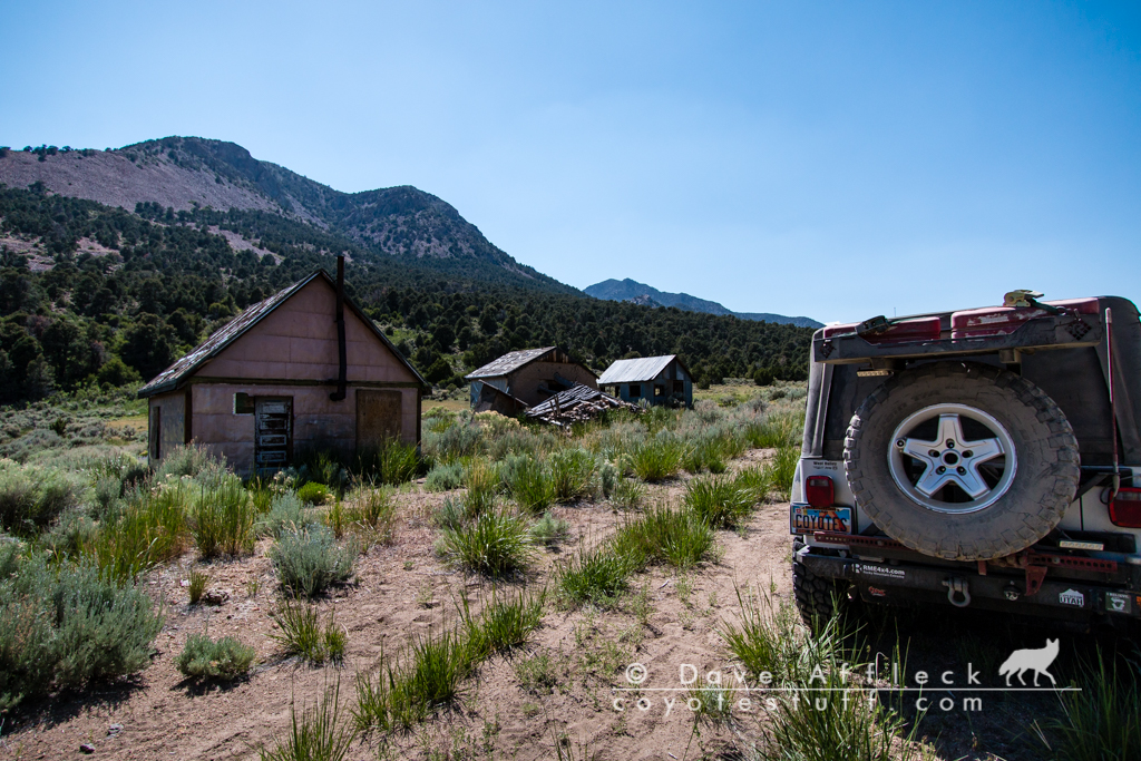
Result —
M243 476L309 450L420 442L427 384L337 281L315 272L250 306L139 389L151 462L201 444Z

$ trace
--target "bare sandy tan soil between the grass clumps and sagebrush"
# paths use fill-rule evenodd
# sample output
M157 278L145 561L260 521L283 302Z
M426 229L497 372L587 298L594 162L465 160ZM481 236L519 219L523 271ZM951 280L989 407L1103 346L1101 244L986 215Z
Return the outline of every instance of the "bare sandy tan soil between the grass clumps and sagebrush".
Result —
M764 452L748 452L735 468L755 464ZM654 486L650 500L678 501L683 479ZM124 683L104 685L79 695L59 695L22 706L5 717L0 758L67 759L82 755L89 744L97 758L115 759L254 759L290 722L291 702L311 705L326 686L340 683L345 713L351 706L354 677L374 667L383 650L397 653L415 634L438 632L455 622L456 604L467 596L472 610L492 591L486 580L448 567L432 551L438 531L432 509L444 499L422 487L399 495L400 520L390 545L374 547L361 558L356 582L321 600L323 615L348 631L348 651L339 666L311 666L281 655L272 639L269 609L277 599L267 542L252 557L204 566L210 589L228 599L218 607L191 606L183 580L193 553L155 569L146 584L167 609L167 622L151 665ZM593 544L622 519L605 504L558 507L553 513L570 523L572 539L542 551L528 585L548 584L552 570L568 553ZM755 740L766 719L756 712L738 714L734 727L696 727L685 707L686 693L644 689L639 710L629 699L625 711L615 699L629 697L626 669L642 664L644 688L677 688L682 664L701 673L733 672L733 658L717 630L736 621L737 590L759 588L779 600L792 599L791 540L787 508L762 505L738 532L718 532L715 561L679 576L654 568L634 578L633 593L616 610L560 609L548 605L542 626L509 657L494 656L463 687L462 698L408 734L367 735L351 759L426 758L556 758L556 743L573 758L697 759L742 758L737 743ZM653 613L640 624L637 598L648 597ZM942 614L940 614L942 615ZM963 637L986 630L985 623L921 638L913 658L925 649L938 658ZM186 638L208 631L230 634L257 648L249 678L226 686L200 687L185 681L173 666ZM966 632L964 634L964 632ZM974 632L972 634L971 632ZM950 639L948 639L950 638ZM517 670L545 657L557 683L528 689ZM675 699L680 698L680 699ZM675 699L667 709L666 701ZM623 705L623 704L618 704ZM1037 715L1033 705L1002 704L968 723L955 718L933 720L928 758L1036 758L1026 731ZM949 714L948 714L949 715ZM926 724L925 724L926 726ZM922 734L922 732L921 732Z

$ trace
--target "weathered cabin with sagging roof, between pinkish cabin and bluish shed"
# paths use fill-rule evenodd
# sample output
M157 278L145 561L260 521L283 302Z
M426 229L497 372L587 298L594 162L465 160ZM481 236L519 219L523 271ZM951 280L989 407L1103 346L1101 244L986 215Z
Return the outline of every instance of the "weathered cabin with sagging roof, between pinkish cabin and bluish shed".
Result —
M471 407L513 416L575 383L598 388L598 377L557 346L504 354L463 377L471 383Z

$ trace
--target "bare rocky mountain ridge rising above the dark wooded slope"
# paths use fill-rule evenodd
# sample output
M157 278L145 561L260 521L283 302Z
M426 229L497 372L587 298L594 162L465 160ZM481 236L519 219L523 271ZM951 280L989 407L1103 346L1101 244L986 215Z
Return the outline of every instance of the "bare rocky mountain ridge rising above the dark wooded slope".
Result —
M519 264L493 245L451 204L411 186L341 193L234 143L195 137L147 140L113 151L8 151L0 184L34 183L54 193L130 211L157 204L178 211L264 211L308 222L378 253L418 260L462 261L499 280L529 280L543 289L573 289ZM430 265L429 262L426 262Z

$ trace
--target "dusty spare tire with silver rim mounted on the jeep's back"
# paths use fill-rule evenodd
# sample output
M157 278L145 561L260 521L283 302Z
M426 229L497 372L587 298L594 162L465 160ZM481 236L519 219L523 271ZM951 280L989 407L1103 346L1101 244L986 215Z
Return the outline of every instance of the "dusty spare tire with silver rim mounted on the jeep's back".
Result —
M974 363L903 372L852 415L844 471L856 504L924 554L989 560L1049 534L1074 501L1077 439L1046 394Z

